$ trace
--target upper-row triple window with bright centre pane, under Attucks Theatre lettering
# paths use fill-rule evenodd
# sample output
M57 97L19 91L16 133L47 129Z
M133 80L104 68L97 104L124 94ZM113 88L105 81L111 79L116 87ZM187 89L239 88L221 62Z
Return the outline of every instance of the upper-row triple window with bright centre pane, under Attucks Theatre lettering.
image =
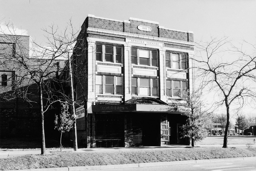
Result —
M133 64L157 66L157 51L132 48L131 61Z

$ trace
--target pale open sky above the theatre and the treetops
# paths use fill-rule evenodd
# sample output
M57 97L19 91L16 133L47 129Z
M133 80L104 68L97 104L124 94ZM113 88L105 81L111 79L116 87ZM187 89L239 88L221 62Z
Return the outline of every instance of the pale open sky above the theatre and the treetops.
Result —
M159 22L165 28L193 31L194 41L230 36L234 42L256 39L255 0L0 0L0 21L44 45L42 28L80 30L88 14L117 20L130 17ZM247 109L247 112L255 112Z

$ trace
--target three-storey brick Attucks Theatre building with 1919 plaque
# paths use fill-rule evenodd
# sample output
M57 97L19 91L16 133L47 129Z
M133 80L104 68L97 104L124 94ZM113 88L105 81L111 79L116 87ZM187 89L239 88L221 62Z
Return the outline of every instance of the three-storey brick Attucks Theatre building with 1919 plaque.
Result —
M88 15L72 55L78 144L163 146L180 138L180 92L194 88L193 33Z

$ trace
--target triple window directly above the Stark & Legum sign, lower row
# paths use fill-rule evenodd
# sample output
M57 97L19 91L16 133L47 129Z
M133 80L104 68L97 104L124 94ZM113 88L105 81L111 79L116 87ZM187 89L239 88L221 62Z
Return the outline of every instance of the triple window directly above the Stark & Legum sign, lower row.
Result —
M123 94L122 77L96 75L95 82L97 94Z

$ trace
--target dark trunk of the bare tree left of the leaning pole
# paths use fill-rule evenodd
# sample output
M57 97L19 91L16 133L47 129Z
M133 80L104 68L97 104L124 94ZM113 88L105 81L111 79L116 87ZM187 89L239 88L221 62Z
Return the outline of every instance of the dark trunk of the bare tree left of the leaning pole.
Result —
M42 124L42 132L41 132L41 154L45 154L45 138L44 138L44 110L43 110L43 92L41 85L38 86L40 93L40 114L41 114L41 124Z

